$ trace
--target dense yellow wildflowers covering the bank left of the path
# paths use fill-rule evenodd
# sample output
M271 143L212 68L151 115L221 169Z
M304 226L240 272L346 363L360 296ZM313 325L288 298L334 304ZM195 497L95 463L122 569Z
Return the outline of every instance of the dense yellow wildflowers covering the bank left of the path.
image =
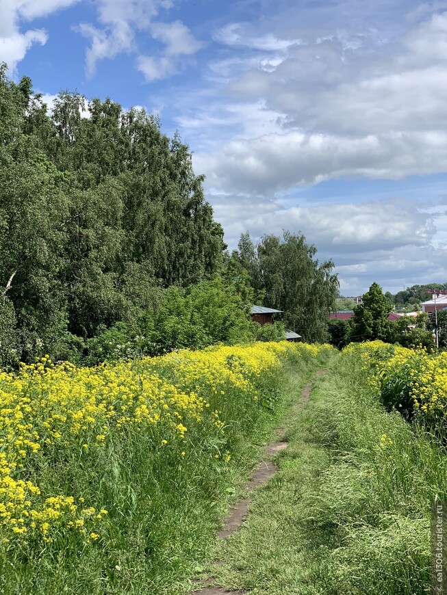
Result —
M42 468L50 473L53 461L65 459L83 466L114 440L138 433L150 436L159 457L181 465L192 434L223 443L218 436L225 436L229 415L243 407L253 416L284 360L314 358L324 349L331 348L256 343L94 368L54 365L45 357L18 373L0 373L1 543L51 543L68 533L97 541L106 508L93 507L75 490L47 492ZM209 458L223 464L231 452L209 447Z

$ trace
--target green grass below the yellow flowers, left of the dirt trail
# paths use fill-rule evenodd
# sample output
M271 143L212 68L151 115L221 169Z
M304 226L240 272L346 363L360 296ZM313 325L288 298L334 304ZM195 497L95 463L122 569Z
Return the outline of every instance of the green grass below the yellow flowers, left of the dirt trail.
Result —
M259 356L261 349L264 347L259 347ZM305 351L290 357L298 369L299 390L320 360ZM242 376L250 375L249 368L245 369L238 359L227 360L226 365L242 370ZM163 362L157 366L163 382L175 382L181 391L191 390L186 373L181 375L173 366L164 369ZM196 370L194 362L188 370ZM137 423L129 424L120 433L111 431L92 449L82 448L84 439L77 449L72 448L71 442L64 447L56 443L47 449L42 447L30 460L23 477L34 481L42 494L82 494L86 505L96 510L104 507L107 516L101 520L97 540L74 535L61 525L51 533L52 542L36 538L21 544L19 535L14 543L1 543L0 592L188 593L189 579L199 574L213 555L212 544L221 518L229 503L243 492L251 468L261 459L262 445L288 405L290 395L280 391L284 375L282 370L262 376L265 384L256 388L264 406L248 399L245 388L216 384L207 393L202 392L209 401L209 412L220 406L224 434L220 434L220 426L216 428L210 414L208 425L205 421L196 426L192 419L185 421L188 432L184 440L177 438L177 442L168 425L160 425L159 430L151 426L146 431ZM129 372L129 379L132 378ZM9 382L8 378L3 380ZM214 391L216 387L225 388L225 397L220 396L220 390ZM201 390L205 388L202 386ZM97 433L95 429L92 435ZM165 437L168 443L162 445L161 438ZM182 449L186 451L184 456ZM231 451L229 462L224 458L227 451Z

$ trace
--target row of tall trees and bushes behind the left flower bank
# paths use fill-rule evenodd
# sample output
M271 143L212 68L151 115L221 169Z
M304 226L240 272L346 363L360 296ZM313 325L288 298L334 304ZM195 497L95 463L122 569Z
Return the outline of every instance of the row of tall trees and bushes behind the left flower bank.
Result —
M282 336L326 336L337 279L303 235L229 254L188 146L144 110L62 92L53 109L0 67L0 365L93 363ZM335 291L335 293L334 293ZM260 302L259 302L260 303Z

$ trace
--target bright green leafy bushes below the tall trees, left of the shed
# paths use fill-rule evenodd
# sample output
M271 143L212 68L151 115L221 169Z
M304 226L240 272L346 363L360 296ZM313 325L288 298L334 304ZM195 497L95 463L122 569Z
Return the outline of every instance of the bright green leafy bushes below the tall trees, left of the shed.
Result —
M253 341L255 331L237 285L220 276L188 289L169 287L134 321L104 327L86 341L85 362L158 356L174 349ZM283 340L284 334L280 339Z

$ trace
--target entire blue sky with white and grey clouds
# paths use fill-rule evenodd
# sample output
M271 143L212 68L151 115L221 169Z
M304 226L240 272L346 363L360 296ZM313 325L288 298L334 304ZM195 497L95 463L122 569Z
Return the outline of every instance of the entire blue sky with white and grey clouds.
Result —
M301 232L342 295L447 281L447 1L0 0L0 61L159 114L231 249Z

